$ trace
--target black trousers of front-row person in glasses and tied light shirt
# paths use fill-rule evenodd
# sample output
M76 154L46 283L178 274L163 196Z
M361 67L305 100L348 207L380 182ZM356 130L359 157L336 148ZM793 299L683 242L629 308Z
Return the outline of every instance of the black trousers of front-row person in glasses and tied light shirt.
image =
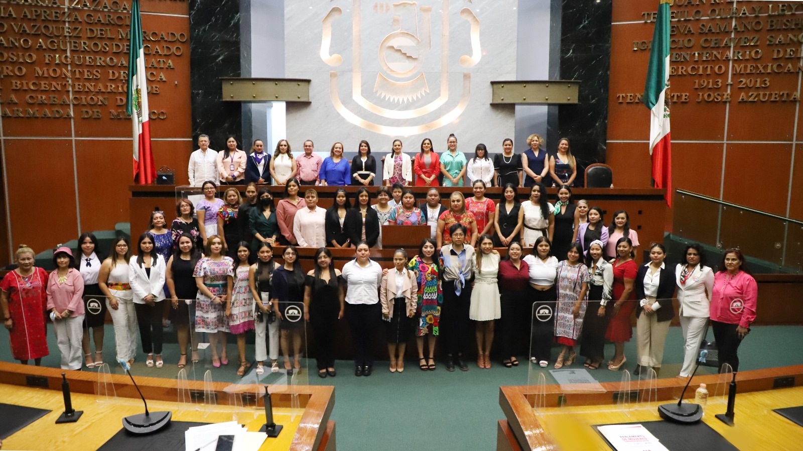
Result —
M454 293L454 281L443 281L442 289L443 305L438 330L444 336L446 354L460 355L470 340L471 320L468 311L471 306L471 281L466 282L459 295Z

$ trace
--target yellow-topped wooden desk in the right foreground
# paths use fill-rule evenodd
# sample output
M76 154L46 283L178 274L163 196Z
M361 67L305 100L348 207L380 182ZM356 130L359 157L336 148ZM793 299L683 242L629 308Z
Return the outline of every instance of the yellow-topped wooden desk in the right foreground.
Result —
M779 377L791 377L794 387L773 389ZM709 397L703 421L717 433L744 451L764 449L793 449L803 443L803 428L772 412L774 408L803 405L803 365L742 371L737 375L739 395L736 397L736 426L731 428L714 418L724 413L724 397ZM684 379L658 379L658 402L630 404L630 409L618 409L611 404L611 392L618 383L603 383L604 394L573 395L569 407L560 407L565 398L560 386L548 386L546 407L536 412L532 406L535 387L500 387L499 405L506 420L497 428L497 450L532 451L535 449L608 450L609 446L591 428L592 424L633 423L660 420L658 404L671 402L679 395ZM693 383L707 383L709 393L717 392L719 375L695 377ZM636 390L638 383L631 385ZM723 391L724 392L724 391ZM551 393L551 394L549 394ZM686 392L694 397L694 390ZM585 402L584 402L585 401ZM583 425L578 427L578 424Z

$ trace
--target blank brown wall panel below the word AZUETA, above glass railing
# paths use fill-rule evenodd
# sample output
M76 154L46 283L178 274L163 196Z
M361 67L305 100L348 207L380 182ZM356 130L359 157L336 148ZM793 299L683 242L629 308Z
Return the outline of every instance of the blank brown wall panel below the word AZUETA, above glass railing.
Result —
M792 144L728 143L727 152L723 199L785 215Z

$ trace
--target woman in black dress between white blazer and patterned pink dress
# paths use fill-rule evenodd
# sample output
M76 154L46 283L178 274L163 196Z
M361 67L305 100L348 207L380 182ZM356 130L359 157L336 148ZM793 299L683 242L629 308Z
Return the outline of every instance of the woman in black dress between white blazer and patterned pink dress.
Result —
M193 236L189 233L182 233L178 237L178 245L167 261L167 288L172 299L173 314L170 321L177 328L178 347L181 357L178 359L178 367L183 368L187 364L187 343L190 336L193 337L190 349L193 352L193 363L200 360L198 356L198 339L195 337L195 297L198 295L198 285L195 282L193 273L195 265L201 253L195 247ZM190 321L190 317L193 321ZM191 334L191 335L190 335Z

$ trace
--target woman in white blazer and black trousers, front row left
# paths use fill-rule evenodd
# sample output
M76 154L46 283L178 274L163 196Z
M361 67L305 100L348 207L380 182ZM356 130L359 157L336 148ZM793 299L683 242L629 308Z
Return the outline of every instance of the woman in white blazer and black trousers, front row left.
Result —
M134 310L140 325L142 351L148 355L145 361L153 367L161 368L161 315L165 309L159 303L165 299L165 259L153 250L153 237L143 233L137 240L139 249L136 256L128 262L128 281L134 294Z

